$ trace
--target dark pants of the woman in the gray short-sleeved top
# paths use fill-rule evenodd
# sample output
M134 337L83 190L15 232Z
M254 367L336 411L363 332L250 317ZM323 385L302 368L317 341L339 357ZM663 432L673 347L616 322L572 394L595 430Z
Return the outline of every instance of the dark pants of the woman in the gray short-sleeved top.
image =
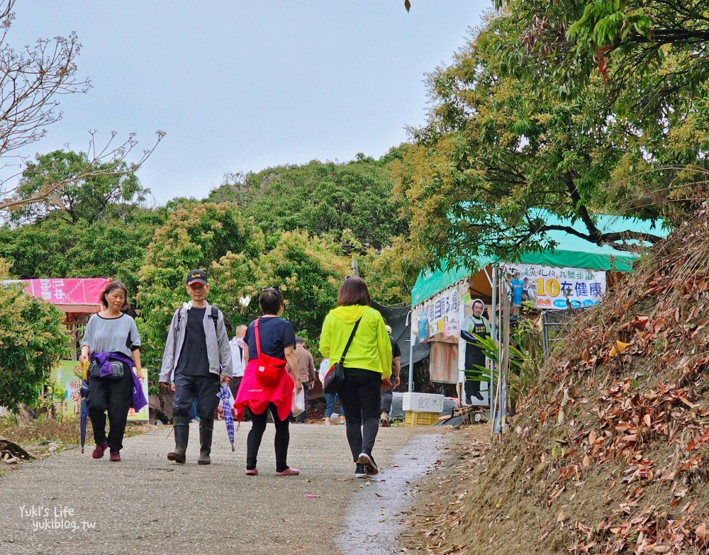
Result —
M123 449L125 422L133 403L133 379L127 364L123 364L123 378L112 380L89 376L89 418L94 429L94 441L100 445L108 441L111 452ZM108 439L106 439L106 411L108 411Z

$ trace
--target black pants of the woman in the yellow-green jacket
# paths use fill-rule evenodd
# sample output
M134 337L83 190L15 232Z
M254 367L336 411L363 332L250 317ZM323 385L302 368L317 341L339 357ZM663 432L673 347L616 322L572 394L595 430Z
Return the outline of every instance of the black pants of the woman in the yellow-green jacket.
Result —
M347 442L355 462L360 453L372 454L376 432L379 431L380 391L379 372L345 368L345 381L337 393L345 408Z

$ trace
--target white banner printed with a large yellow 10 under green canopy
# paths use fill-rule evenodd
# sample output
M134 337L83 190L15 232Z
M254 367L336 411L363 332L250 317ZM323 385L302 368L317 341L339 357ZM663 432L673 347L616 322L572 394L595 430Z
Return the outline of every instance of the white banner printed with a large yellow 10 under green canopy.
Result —
M501 264L501 271L510 282L513 304L530 301L542 310L564 310L569 304L596 305L605 294L605 271L535 264Z

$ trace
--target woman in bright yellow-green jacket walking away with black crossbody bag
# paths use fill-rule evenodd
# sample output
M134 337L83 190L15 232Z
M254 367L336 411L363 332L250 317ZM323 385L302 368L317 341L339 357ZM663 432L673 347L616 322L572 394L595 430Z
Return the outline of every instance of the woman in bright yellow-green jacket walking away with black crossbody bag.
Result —
M357 465L357 478L378 472L372 447L379 431L380 391L391 385L391 342L384 319L369 306L371 303L367 284L348 276L337 291L337 308L325 317L320 335L320 352L330 359L330 364L335 364L359 321L343 364L345 381L338 391L345 408L347 442Z

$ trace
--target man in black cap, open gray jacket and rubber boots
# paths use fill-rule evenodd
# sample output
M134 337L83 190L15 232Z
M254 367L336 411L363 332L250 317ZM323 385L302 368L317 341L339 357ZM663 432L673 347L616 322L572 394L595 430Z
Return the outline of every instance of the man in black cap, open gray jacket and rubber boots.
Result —
M174 376L175 449L167 454L167 459L177 463L186 461L189 409L196 398L200 446L197 464L210 464L214 410L219 402L217 393L220 381L228 385L232 376L231 349L224 315L206 302L209 292L206 272L189 271L186 287L191 301L177 309L172 317L160 371L160 383L164 387L168 387L169 379Z

